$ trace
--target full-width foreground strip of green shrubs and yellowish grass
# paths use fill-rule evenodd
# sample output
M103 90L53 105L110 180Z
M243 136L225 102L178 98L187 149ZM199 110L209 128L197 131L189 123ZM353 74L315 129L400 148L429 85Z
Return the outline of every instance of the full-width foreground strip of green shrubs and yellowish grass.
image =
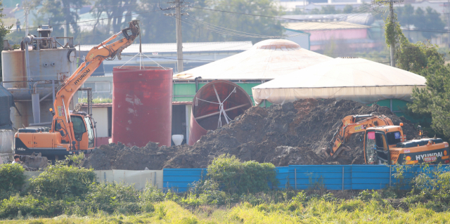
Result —
M409 180L409 190L273 190L273 164L219 157L207 179L175 193L97 183L92 169L68 162L27 187L22 166L0 166L0 223L450 223L450 172L439 169Z

